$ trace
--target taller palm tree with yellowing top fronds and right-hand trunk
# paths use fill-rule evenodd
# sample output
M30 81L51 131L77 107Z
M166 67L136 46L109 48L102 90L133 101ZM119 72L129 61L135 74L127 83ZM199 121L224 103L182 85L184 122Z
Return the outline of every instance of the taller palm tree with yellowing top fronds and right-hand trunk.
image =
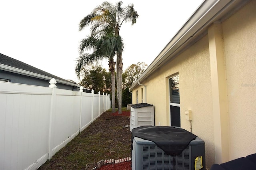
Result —
M123 2L120 1L116 5L110 2L103 2L92 10L92 13L84 17L80 22L80 30L86 26L92 25L91 34L105 32L110 29L111 32L119 37L120 28L124 22L136 23L138 18L137 12L132 5L122 8ZM123 47L122 47L123 49ZM116 51L116 83L118 95L118 113L122 113L122 51Z

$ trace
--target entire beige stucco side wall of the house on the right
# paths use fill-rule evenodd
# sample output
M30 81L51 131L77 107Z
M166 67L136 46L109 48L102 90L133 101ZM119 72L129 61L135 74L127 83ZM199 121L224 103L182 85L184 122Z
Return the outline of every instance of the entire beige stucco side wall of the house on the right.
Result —
M146 85L147 103L154 105L155 124L170 126L168 79L179 74L181 127L190 131L190 124L184 114L185 110L190 109L192 111L192 132L205 141L206 167L208 169L215 161L222 163L219 161L233 160L256 153L254 142L256 138L255 9L256 1L253 0L224 22L215 23L209 27L209 37L223 36L223 41L217 38L219 40L216 41L216 45L218 45L217 48L223 48L221 58L224 61L224 66L222 65L220 67L222 69L216 70L216 75L213 75L216 71L211 71L213 64L210 62L210 56L212 58L210 51L215 47L212 46L214 44L212 39L209 42L207 35L140 82ZM214 33L215 31L216 33ZM223 44L220 45L220 42ZM210 48L209 45L211 45ZM216 55L219 57L220 54ZM214 64L216 65L216 63ZM224 81L221 81L220 77L224 77ZM215 78L216 81L221 82L214 83ZM215 88L213 85L220 85L221 88L226 86L223 87L226 97L223 96L222 91L217 91L219 94L214 91L214 95L212 95ZM133 89L133 92L138 90L140 96L142 86L136 88ZM132 95L134 104L135 93ZM216 97L214 96L221 95L222 97L215 101ZM216 119L217 112L214 111L213 104L219 102L222 105L222 99L225 99L227 104L219 108L219 121L222 123L218 123L216 122L216 120L218 121ZM223 110L224 112L222 112ZM222 118L222 113L226 114L227 112L228 116ZM223 123L226 120L228 122ZM223 125L227 126L223 127ZM222 130L229 133L224 139L229 141L225 142L221 139L221 142L216 142L218 138L215 139L214 135L222 135ZM223 143L225 144L223 145ZM225 149L224 146L228 149ZM216 151L221 147L224 147L224 150L220 149L222 152ZM225 151L228 154L224 153ZM217 158L220 156L223 158L218 160Z

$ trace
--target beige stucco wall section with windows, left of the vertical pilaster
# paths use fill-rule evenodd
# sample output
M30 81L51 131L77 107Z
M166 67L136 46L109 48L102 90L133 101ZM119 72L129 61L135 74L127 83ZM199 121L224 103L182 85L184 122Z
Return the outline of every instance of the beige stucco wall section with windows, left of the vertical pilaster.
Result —
M185 110L190 109L192 111L192 132L205 141L206 164L210 167L215 158L207 36L161 67L157 73L150 75L150 78L141 82L147 88L147 103L154 105L157 126L170 126L168 82L169 78L177 73L180 76L181 127L190 131L190 123L185 119ZM139 91L140 88L141 86L137 87L133 92Z

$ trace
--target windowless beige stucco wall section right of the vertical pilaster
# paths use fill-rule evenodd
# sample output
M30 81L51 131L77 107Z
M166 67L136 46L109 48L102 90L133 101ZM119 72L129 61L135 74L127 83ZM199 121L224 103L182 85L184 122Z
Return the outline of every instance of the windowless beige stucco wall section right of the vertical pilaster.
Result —
M222 23L230 118L230 159L256 153L256 1Z

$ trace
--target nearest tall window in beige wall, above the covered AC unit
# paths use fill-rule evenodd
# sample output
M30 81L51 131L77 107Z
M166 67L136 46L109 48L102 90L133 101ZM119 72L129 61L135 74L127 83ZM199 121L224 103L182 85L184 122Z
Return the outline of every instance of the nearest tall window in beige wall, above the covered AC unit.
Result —
M180 127L180 79L175 75L169 79L170 94L170 123L171 126Z

